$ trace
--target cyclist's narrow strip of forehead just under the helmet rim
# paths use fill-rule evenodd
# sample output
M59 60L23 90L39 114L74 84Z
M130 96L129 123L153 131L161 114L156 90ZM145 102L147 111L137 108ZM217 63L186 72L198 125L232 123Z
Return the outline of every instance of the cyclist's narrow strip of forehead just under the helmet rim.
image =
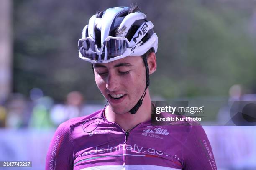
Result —
M93 64L94 67L115 67L115 66L136 66L142 63L141 56L127 56L119 60L114 60L109 63ZM125 63L125 64L123 64Z

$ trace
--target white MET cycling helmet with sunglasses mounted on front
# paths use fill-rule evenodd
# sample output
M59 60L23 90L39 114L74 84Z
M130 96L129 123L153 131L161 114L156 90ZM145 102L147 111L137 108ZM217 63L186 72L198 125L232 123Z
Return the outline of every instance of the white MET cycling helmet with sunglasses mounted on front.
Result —
M108 63L126 56L156 53L158 38L153 24L137 7L115 7L93 15L78 41L79 58Z

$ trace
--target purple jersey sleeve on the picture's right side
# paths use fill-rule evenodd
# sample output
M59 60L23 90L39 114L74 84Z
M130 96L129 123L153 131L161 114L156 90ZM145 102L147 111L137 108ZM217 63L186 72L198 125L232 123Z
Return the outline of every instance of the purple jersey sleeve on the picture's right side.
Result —
M182 151L184 170L217 170L210 142L200 125L192 125Z

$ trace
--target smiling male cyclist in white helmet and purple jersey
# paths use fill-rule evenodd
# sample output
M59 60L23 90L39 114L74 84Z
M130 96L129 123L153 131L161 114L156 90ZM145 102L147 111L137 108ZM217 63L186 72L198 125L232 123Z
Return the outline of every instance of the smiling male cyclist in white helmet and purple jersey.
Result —
M137 6L93 15L78 41L108 101L89 116L56 130L46 170L216 170L207 136L190 122L153 126L149 75L156 71L158 38Z

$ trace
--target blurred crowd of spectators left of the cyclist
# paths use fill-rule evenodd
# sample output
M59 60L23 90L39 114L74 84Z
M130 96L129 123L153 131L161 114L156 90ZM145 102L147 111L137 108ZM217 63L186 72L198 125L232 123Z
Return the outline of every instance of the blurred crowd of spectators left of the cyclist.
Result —
M73 117L80 117L98 109L101 104L85 104L84 96L79 91L67 94L66 101L56 103L43 91L34 88L30 96L11 94L7 100L0 101L0 127L6 128L38 128L57 127Z

